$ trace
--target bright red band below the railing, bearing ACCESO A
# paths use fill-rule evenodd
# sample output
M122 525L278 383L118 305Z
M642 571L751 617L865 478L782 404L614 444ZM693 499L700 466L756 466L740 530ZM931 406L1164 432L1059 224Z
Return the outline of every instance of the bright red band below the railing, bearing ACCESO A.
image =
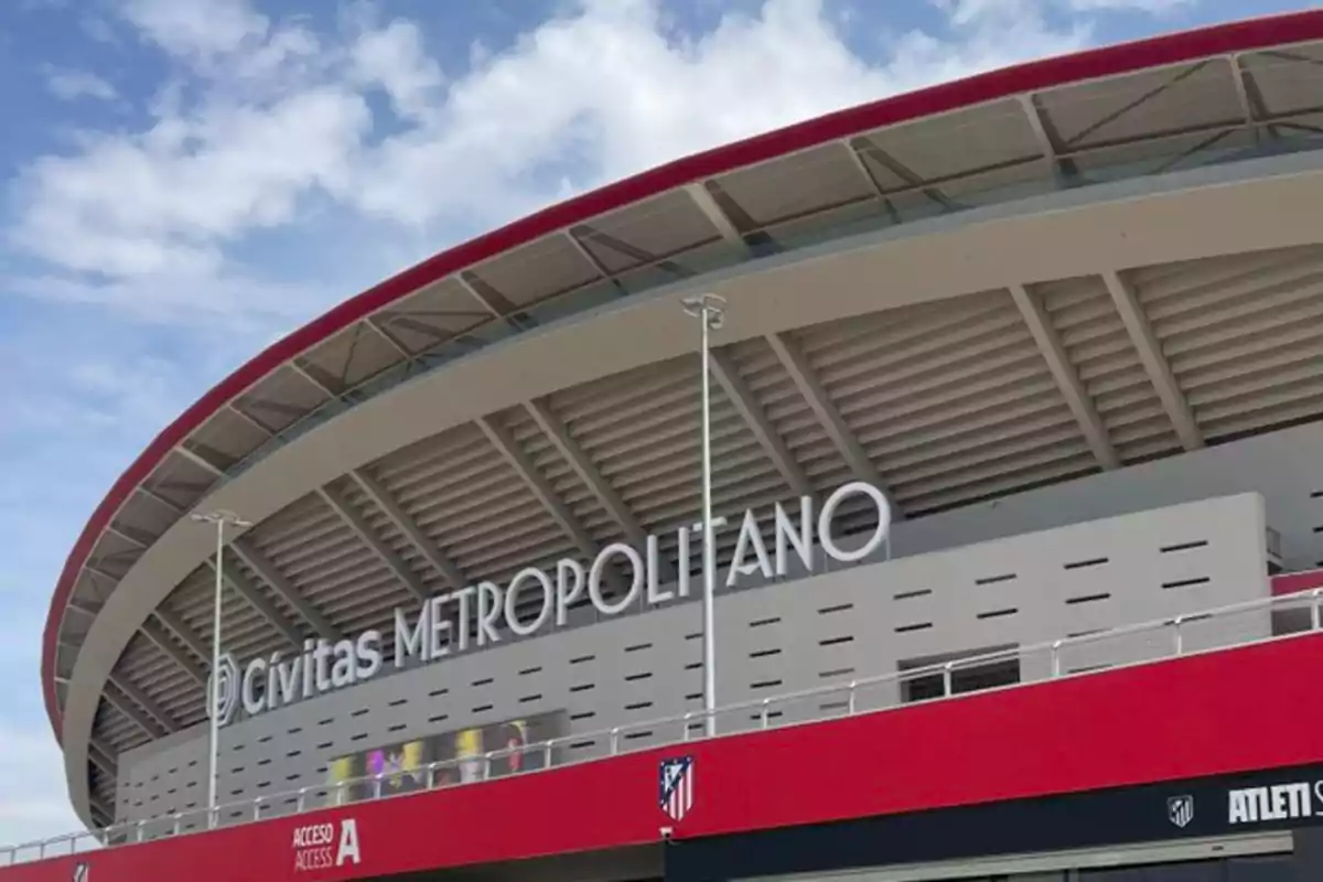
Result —
M95 882L381 879L656 844L663 826L685 841L1297 768L1323 758L1323 703L1301 676L1320 665L1323 637L1302 635L0 867L0 882L66 882L81 861ZM683 755L693 804L675 820L659 763ZM335 866L349 819L359 862Z

